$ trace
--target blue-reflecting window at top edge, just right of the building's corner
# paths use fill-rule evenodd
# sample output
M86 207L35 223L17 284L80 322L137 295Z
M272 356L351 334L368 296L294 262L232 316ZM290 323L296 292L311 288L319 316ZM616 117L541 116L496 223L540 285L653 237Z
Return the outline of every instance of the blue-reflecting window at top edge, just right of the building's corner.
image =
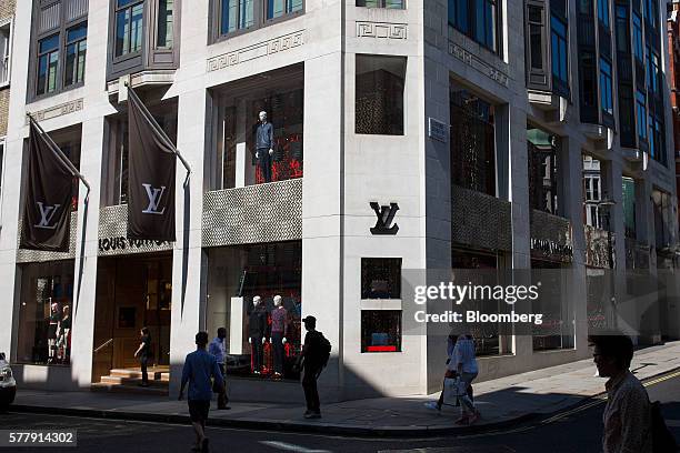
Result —
M449 0L449 27L490 49L499 51L496 0Z

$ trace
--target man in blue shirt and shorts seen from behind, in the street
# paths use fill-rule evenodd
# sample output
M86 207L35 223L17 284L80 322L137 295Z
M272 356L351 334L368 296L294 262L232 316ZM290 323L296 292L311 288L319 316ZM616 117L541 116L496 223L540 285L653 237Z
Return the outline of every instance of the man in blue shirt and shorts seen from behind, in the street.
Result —
M196 334L196 351L187 354L184 369L182 370L182 386L178 400L184 397L184 387L189 383L189 416L196 432L194 451L208 452L208 437L206 437L206 421L210 411L210 399L212 397L212 382L222 387L224 380L217 363L217 359L206 351L208 344L208 332Z

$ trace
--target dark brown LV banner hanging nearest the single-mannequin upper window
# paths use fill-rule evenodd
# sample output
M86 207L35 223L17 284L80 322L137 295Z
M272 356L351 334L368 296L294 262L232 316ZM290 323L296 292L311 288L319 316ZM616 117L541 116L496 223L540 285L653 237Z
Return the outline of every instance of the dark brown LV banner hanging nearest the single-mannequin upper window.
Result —
M128 239L174 241L174 151L131 89L128 103Z

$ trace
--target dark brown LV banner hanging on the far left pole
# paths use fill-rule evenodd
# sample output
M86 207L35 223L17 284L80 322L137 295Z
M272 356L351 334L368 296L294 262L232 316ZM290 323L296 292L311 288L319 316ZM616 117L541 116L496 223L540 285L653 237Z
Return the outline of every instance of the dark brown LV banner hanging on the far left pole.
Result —
M73 173L33 122L28 167L20 248L68 252Z

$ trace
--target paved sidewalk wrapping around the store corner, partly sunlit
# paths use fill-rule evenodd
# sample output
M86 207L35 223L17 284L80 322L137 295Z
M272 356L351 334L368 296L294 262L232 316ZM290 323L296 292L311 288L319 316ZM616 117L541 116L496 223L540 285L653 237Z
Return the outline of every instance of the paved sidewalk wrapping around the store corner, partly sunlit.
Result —
M636 353L631 370L650 379L680 368L680 342ZM594 378L592 360L583 360L474 385L482 419L473 426L456 426L458 407L439 415L423 403L438 397L380 397L322 405L323 419L304 420L303 402L290 404L233 402L230 411L210 412L210 424L352 435L418 436L483 432L521 421L547 416L603 393L606 380ZM20 391L17 411L189 423L186 401L159 396L97 392ZM214 407L214 404L213 404Z

